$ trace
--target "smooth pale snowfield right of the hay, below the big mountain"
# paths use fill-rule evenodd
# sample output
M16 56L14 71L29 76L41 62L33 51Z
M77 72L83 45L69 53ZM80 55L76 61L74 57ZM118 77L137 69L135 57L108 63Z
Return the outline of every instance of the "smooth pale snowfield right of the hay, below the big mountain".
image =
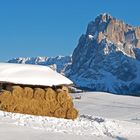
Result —
M78 95L82 98L75 100L75 106L81 114L140 123L140 97L101 92Z

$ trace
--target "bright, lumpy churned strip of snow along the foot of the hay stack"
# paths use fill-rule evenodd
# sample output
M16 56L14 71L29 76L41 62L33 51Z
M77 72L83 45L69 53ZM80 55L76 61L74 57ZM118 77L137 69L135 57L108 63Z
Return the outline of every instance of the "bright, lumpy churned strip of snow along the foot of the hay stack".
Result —
M126 122L123 121L104 119L90 115L80 115L79 118L73 121L0 111L0 122L16 124L17 126L28 128L42 129L47 132L59 132L84 136L94 135L117 138L118 136L124 137L127 134L133 134L133 129L129 129L128 127L129 123L125 124ZM125 130L126 127L127 130Z

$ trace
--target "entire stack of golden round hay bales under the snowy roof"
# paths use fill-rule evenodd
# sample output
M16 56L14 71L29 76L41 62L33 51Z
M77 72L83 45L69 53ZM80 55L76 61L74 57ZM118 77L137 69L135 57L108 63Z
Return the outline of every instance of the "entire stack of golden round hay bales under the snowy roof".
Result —
M66 87L55 90L12 86L0 93L0 109L8 112L76 119L78 111Z

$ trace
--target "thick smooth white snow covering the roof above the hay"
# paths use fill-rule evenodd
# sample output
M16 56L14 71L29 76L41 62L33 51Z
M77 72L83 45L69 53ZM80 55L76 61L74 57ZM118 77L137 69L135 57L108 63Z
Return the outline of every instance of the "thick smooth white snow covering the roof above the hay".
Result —
M41 86L73 84L47 66L13 63L0 63L0 82Z

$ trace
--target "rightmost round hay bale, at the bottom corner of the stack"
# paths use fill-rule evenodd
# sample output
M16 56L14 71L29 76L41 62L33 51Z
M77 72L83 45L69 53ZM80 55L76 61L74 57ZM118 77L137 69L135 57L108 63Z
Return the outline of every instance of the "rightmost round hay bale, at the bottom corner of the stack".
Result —
M67 119L76 119L78 116L78 111L75 109L75 108L70 108L68 111L67 111L67 115L66 115L66 118Z

